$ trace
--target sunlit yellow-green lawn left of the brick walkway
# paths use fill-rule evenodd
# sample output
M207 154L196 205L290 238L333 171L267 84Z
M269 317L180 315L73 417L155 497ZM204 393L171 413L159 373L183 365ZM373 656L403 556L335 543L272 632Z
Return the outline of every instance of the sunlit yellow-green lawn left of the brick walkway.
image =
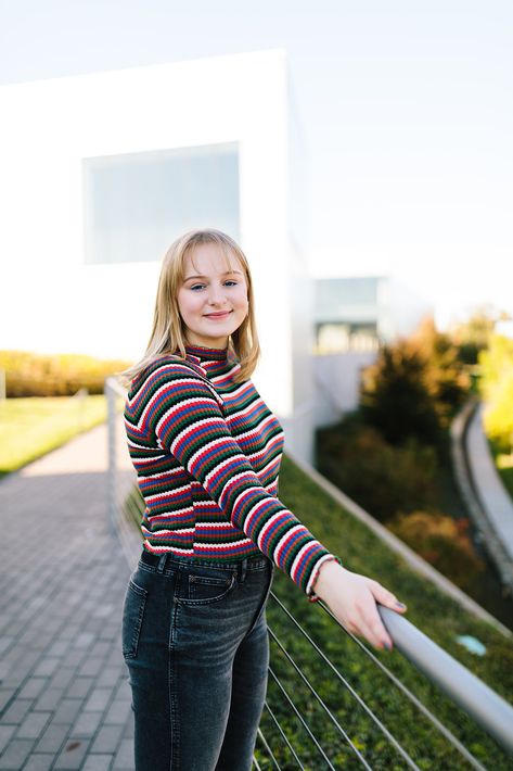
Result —
M25 466L105 417L102 394L0 402L0 475Z

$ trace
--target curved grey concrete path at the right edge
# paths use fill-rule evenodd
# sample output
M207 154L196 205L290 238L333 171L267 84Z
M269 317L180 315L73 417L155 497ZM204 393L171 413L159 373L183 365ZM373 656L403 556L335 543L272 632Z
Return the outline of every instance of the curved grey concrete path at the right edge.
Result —
M483 431L484 405L475 410L466 434L466 452L474 486L485 514L513 559L513 502L497 472Z

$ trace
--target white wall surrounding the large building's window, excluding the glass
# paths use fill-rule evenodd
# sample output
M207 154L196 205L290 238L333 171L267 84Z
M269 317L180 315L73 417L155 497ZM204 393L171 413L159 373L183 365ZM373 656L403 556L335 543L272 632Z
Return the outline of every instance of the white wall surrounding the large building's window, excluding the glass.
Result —
M293 118L284 52L4 86L0 105L9 116L0 147L0 253L8 276L0 345L139 358L150 334L163 253L143 262L87 262L85 163L234 143L239 236L252 265L264 351L255 381L284 422L296 426L287 439L308 457L308 427L300 429L296 415L307 397L304 390L309 393L309 342L303 334L307 320L293 313L287 154ZM217 224L195 224L206 225ZM162 238L163 251L176 235L170 230ZM302 376L296 390L294 367Z

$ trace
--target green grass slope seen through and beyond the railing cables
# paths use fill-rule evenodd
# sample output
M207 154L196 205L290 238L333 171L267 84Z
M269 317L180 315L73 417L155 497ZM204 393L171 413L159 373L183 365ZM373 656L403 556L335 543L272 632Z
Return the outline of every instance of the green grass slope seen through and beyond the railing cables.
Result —
M280 475L280 498L297 514L332 552L338 554L346 567L372 576L407 603L407 618L421 631L460 660L477 677L511 700L513 693L513 643L489 624L463 610L424 578L408 568L374 533L354 519L342 506L320 490L291 460L284 460ZM364 698L393 735L403 745L421 769L466 769L469 763L444 738L406 697L348 639L321 607L306 597L280 571L275 571L273 591L310 636L326 653L350 685ZM350 738L363 753L373 769L403 769L405 760L390 747L363 709L341 684L312 648L287 621L271 598L268 620L287 653L313 683L333 715ZM456 640L470 634L485 646L483 657L463 648ZM446 698L399 653L377 653L387 667L450 729L486 768L511 769L511 759L493 740L475 725L452 702ZM290 693L335 768L361 768L344 740L317 705L306 685L286 661L275 642L271 642L271 667ZM325 768L324 761L307 738L292 708L286 704L272 679L269 681L268 703L292 742L305 768L315 771ZM261 729L282 769L295 769L297 763L283 737L267 712ZM257 759L261 769L274 766L257 744Z

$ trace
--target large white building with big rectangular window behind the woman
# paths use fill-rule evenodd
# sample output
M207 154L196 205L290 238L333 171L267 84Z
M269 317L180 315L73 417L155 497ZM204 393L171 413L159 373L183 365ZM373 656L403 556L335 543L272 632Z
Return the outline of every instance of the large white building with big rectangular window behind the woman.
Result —
M283 51L0 88L0 347L137 359L161 260L193 227L240 241L256 382L310 454L311 281Z

